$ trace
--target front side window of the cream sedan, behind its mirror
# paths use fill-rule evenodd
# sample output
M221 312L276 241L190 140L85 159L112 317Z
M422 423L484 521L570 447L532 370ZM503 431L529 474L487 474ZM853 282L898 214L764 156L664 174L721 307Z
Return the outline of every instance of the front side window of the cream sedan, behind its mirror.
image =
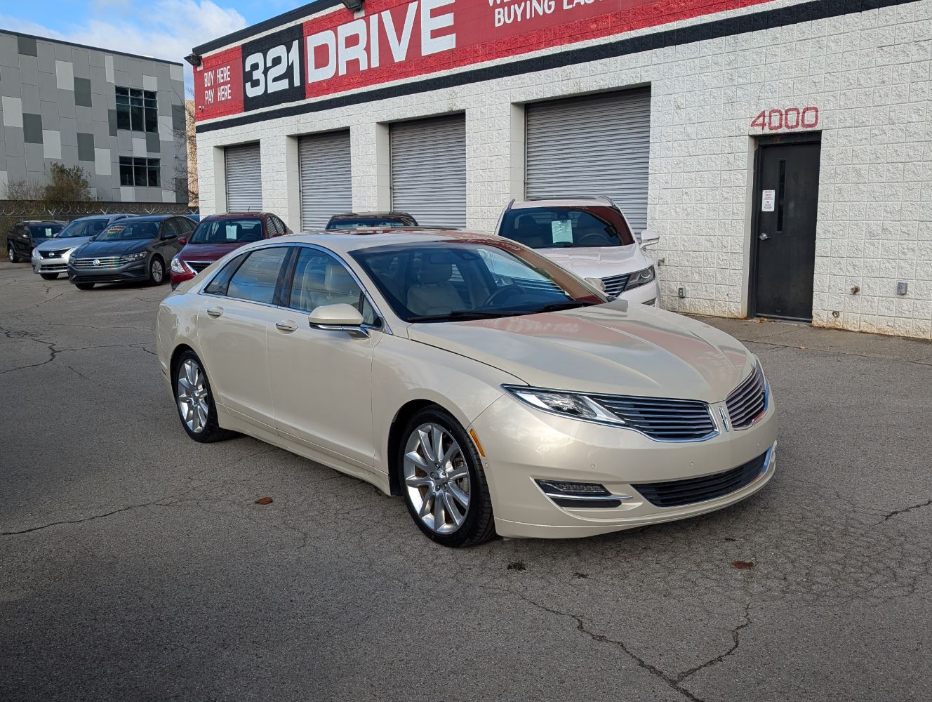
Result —
M359 310L363 323L376 324L376 310L346 266L335 256L301 247L288 307L309 313L341 302Z

